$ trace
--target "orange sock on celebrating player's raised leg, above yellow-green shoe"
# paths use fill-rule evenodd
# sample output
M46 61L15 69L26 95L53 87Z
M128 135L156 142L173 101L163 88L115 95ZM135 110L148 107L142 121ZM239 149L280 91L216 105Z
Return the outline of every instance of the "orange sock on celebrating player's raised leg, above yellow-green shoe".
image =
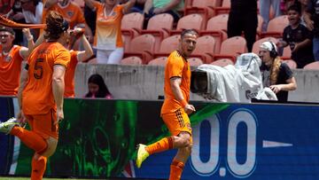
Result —
M164 137L160 139L158 142L153 143L152 145L147 145L145 150L152 153L164 152L168 149L173 148L173 137Z

